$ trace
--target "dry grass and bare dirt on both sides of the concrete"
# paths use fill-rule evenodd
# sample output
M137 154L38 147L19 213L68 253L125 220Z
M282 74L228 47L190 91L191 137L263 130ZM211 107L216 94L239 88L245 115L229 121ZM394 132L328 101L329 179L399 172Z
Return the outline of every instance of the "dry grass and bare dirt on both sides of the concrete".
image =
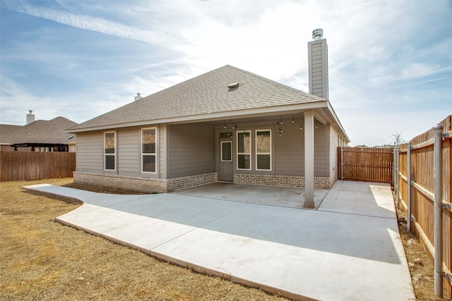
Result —
M137 193L72 178L0 183L0 300L285 300L56 223L81 202L20 188L37 183ZM448 300L435 297L433 262L397 214L417 300Z

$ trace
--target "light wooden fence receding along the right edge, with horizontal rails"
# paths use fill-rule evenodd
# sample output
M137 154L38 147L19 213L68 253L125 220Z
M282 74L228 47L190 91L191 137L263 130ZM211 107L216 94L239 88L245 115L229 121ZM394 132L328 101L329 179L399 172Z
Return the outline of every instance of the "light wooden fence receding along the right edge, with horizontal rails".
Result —
M438 151L442 155L442 183L438 188L442 191L441 225L434 226L434 128L413 138L410 142L400 145L396 149L396 201L402 204L407 211L408 230L414 230L420 237L424 248L435 257L434 237L435 231L442 231L442 263L444 286L448 295L452 295L451 269L452 269L452 212L451 212L451 164L452 164L452 115L439 123L442 125L442 149ZM441 141L441 137L439 138ZM410 173L408 174L408 171ZM442 215L441 215L442 214ZM437 253L436 253L437 254ZM435 259L434 260L439 260ZM441 262L439 262L441 266ZM435 279L436 282L436 279ZM442 281L441 281L442 282ZM442 289L440 290L442 293ZM435 288L436 292L436 288Z

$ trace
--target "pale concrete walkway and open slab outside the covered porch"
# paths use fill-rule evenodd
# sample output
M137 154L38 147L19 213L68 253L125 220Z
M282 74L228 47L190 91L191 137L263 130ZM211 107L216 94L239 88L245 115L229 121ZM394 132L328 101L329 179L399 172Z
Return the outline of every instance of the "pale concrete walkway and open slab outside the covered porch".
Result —
M301 300L415 300L387 185L338 181L318 210L24 188L83 200L61 223L202 273Z

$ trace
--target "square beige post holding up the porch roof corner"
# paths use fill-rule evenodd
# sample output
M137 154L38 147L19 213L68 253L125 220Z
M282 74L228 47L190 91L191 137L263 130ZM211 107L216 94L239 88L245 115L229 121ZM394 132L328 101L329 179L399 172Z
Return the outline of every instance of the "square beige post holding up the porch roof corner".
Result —
M304 208L314 208L314 111L304 112Z

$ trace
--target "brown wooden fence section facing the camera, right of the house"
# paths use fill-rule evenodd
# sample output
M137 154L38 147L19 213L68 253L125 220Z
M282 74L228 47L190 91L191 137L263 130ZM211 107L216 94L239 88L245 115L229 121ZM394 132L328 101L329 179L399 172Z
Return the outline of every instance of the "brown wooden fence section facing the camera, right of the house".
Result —
M338 180L392 183L393 149L338 147Z

